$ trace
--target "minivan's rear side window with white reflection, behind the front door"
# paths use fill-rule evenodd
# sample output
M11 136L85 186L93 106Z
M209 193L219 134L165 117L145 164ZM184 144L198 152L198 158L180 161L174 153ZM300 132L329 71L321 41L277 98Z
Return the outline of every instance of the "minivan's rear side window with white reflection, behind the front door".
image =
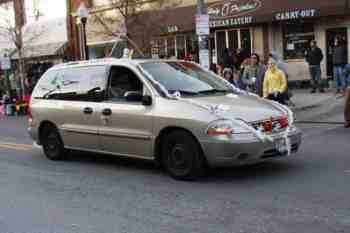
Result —
M106 67L89 66L53 71L38 83L39 98L67 101L98 101L104 96ZM43 91L44 90L44 91Z

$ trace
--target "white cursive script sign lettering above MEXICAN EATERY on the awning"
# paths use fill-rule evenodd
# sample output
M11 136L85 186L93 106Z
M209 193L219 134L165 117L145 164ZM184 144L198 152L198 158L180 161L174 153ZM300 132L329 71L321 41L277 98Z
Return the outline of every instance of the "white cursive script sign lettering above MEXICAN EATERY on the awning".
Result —
M260 7L260 0L225 0L208 7L208 14L211 20L223 20L246 15Z

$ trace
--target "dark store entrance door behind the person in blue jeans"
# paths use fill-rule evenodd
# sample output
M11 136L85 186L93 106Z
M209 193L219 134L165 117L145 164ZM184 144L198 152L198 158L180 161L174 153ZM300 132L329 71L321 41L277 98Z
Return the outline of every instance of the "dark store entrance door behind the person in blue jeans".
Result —
M344 46L346 57L348 57L348 36L347 28L332 28L326 31L326 43L327 43L327 76L333 77L333 48L334 40L338 38L341 45Z

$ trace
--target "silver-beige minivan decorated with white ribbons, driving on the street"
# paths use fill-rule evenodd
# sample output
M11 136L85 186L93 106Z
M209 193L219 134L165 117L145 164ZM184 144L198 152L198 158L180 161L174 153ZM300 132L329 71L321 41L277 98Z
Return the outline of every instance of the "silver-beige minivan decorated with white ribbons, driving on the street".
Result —
M29 134L49 159L70 150L141 158L183 180L287 158L301 144L290 109L185 61L57 65L35 87L30 111Z

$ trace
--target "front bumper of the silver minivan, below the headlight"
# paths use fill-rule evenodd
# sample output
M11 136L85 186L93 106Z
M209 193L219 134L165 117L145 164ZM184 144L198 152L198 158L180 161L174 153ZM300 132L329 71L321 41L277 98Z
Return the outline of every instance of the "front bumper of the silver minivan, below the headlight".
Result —
M274 139L284 136L283 133L272 135ZM302 133L293 128L288 137L292 145L292 153L296 153L302 141ZM266 160L287 157L277 151L270 141L261 142L255 136L232 140L204 140L200 142L204 155L211 167L230 167L263 162Z

